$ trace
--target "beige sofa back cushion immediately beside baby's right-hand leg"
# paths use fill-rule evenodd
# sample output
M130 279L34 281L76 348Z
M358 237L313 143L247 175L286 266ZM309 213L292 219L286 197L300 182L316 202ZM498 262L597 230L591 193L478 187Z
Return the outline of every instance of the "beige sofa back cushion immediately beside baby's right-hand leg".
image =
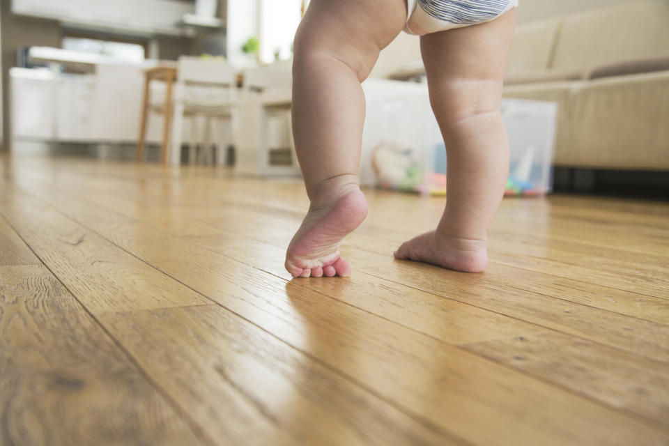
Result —
M515 74L546 70L553 56L561 20L555 17L516 26L507 72Z

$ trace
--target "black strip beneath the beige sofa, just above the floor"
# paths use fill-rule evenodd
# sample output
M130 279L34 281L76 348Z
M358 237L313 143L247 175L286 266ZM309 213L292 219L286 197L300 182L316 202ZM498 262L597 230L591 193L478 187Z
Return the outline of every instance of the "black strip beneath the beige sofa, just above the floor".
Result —
M669 201L669 171L553 167L553 192Z

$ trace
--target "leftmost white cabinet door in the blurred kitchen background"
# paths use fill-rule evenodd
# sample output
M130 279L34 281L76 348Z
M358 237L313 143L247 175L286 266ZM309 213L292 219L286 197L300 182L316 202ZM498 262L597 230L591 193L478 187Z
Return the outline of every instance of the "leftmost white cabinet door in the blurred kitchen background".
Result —
M13 137L53 139L53 82L12 77L11 84Z

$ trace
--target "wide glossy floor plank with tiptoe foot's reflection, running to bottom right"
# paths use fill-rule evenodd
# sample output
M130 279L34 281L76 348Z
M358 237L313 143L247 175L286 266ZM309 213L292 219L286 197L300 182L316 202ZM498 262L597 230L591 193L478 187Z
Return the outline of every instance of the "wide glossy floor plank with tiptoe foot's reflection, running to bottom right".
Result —
M476 355L402 330L395 323L323 298L321 293L271 275L259 277L255 268L180 243L160 231L155 238L148 229L125 231L123 237L132 233L141 233L141 238L125 240L125 247L142 259L410 413L472 443L517 444L536 436L544 444L625 443L632 439L655 443L666 437L652 426L620 417L615 410L480 362ZM161 252L157 240L169 240L171 249ZM408 376L411 378L406 379ZM528 407L532 413L524 409ZM567 419L558 420L555 414ZM474 418L477 423L471 424ZM602 437L593 439L592 426L608 425L613 419L618 432L597 431L595 436ZM522 429L509 431L508 426L519 424ZM586 425L591 428L587 433Z

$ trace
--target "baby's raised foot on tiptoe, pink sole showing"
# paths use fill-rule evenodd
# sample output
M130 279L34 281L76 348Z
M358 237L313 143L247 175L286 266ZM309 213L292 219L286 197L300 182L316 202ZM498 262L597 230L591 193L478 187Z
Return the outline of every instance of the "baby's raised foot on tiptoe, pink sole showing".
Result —
M293 277L351 274L351 265L341 258L339 245L346 234L360 226L364 217L367 217L367 199L357 185L312 200L286 252L286 270Z

